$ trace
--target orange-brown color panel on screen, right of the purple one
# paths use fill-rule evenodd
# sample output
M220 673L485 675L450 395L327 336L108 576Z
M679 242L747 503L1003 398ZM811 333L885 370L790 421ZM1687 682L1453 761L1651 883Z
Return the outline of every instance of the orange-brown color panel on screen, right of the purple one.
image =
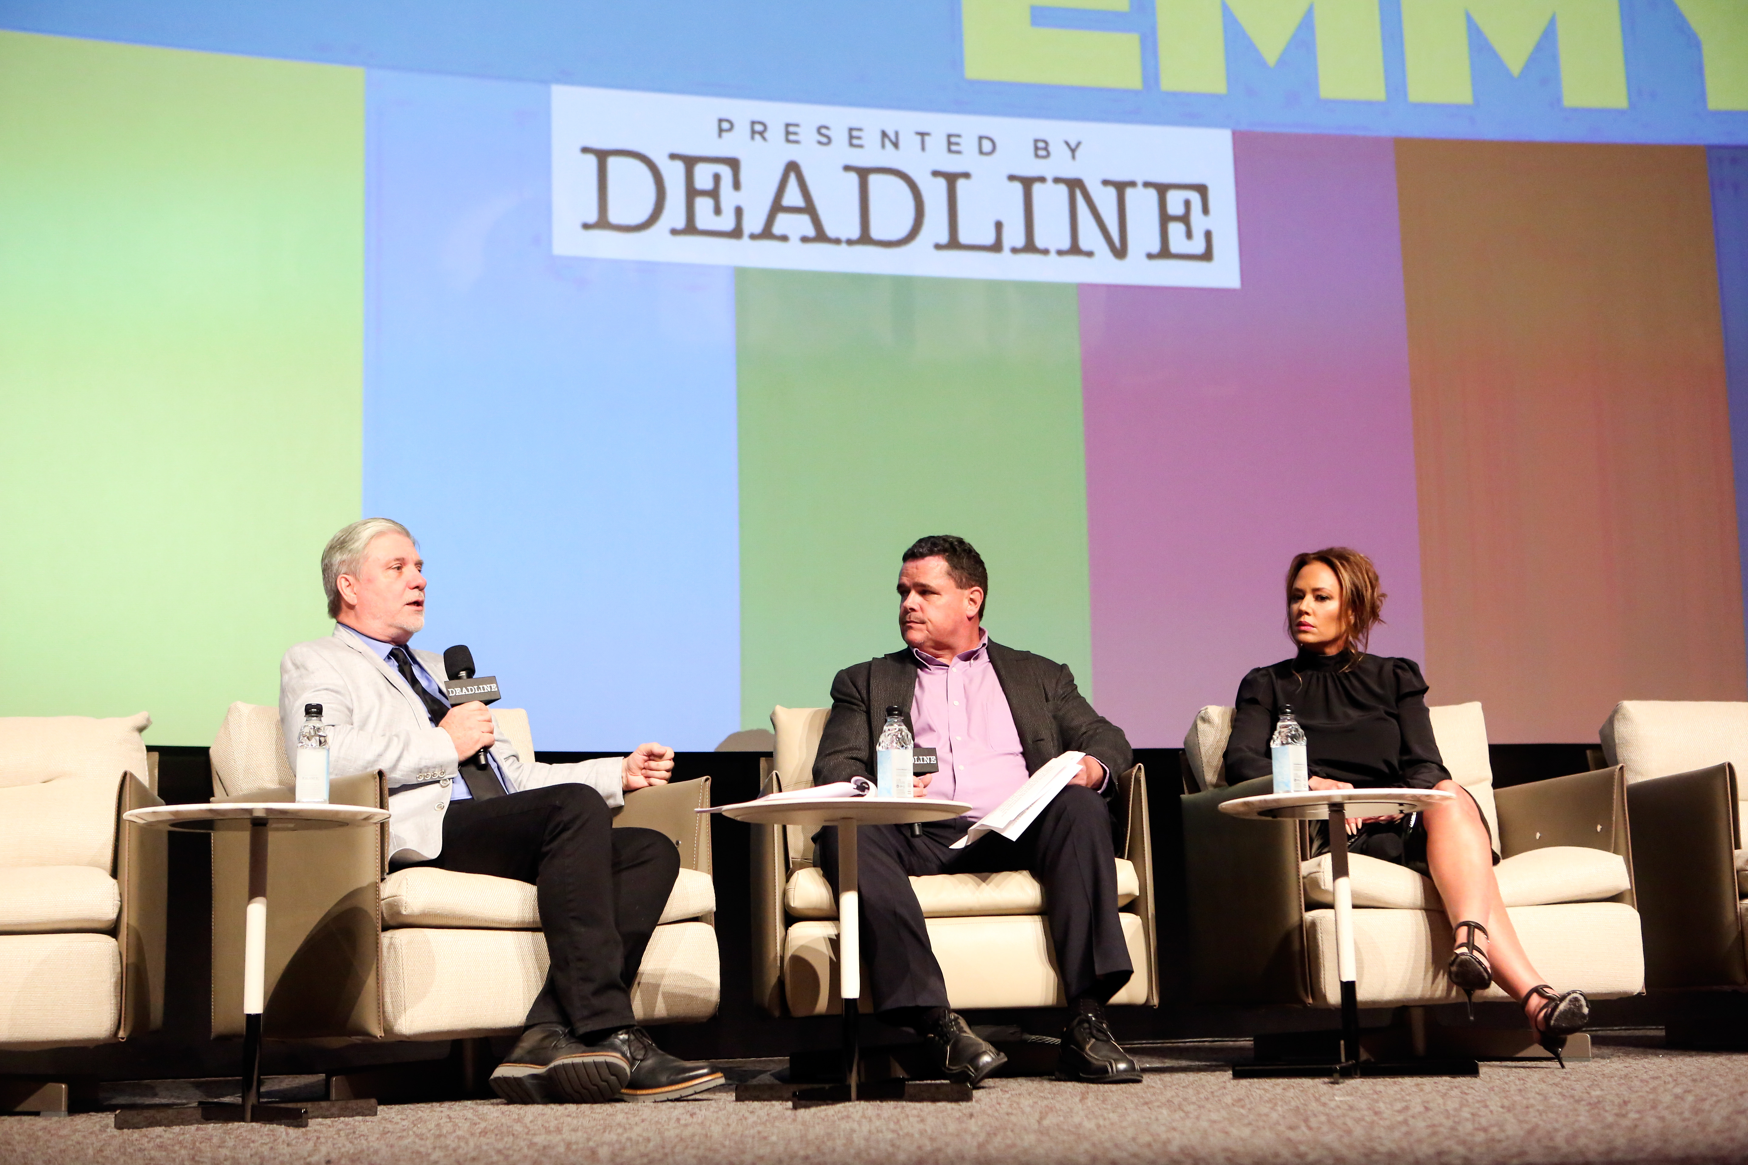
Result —
M1706 154L1398 141L1430 700L1743 700ZM1386 580L1388 583L1388 580Z

